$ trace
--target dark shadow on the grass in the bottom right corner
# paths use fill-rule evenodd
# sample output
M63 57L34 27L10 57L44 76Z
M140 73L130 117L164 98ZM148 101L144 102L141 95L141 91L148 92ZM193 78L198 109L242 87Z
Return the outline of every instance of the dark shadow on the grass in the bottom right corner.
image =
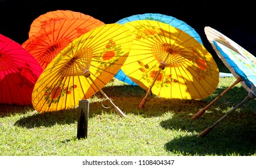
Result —
M206 137L182 136L175 137L166 143L164 148L173 154L182 155L241 155L256 154L256 130L248 127L216 128L215 133Z

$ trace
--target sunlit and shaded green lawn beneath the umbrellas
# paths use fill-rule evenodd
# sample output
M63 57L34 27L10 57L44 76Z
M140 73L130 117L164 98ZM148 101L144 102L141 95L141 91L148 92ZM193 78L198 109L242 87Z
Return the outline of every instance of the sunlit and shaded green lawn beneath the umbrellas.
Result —
M103 91L126 117L102 106L101 94L90 98L88 135L77 138L78 108L38 113L32 106L0 105L0 155L40 156L197 156L256 155L255 100L249 100L206 137L197 137L247 96L239 84L198 119L192 116L236 79L220 79L216 91L204 100L150 97L139 86L113 80ZM108 104L105 104L108 105Z

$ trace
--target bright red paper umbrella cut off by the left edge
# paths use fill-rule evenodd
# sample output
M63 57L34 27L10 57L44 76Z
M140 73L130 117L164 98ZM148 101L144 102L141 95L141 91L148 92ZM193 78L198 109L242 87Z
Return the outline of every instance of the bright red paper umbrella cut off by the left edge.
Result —
M31 104L34 84L43 69L19 43L0 34L0 103Z

